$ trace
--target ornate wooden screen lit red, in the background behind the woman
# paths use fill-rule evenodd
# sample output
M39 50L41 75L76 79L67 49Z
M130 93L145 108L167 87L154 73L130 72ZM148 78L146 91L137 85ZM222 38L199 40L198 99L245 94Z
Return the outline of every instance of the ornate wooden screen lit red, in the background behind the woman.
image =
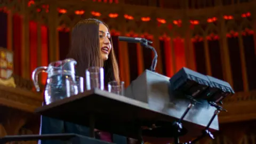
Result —
M138 44L118 42L120 35L151 39L158 52L158 73L171 77L181 67L188 67L229 82L238 92L237 97L226 101L232 103L229 106L238 101L255 102L256 1L0 2L0 47L14 51L14 74L23 78L29 79L31 71L38 66L65 58L71 28L80 19L97 18L111 29L121 79L126 86L149 68L153 53ZM42 76L42 82L45 78ZM249 108L247 111L250 111L247 119L255 118ZM230 113L237 111L233 112ZM242 113L239 111L241 115L236 119L243 119ZM228 116L223 116L221 121L227 119ZM239 136L241 141L255 143L253 135L244 136L244 133ZM228 142L227 139L220 137L210 143Z

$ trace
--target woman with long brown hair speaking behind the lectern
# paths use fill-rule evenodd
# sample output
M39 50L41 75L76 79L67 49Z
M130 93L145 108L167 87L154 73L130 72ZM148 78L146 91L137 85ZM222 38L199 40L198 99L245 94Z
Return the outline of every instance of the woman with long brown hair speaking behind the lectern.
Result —
M76 75L85 78L85 70L89 67L103 67L105 72L105 84L109 81L120 81L118 65L112 47L108 26L97 19L85 19L79 21L73 28L71 35L71 49L67 58L77 61ZM76 133L89 136L89 128L58 119L43 117L41 133ZM97 132L99 138L108 142L126 144L126 137ZM53 141L42 141L42 144L50 144ZM57 143L56 141L54 143ZM135 143L129 139L129 143Z

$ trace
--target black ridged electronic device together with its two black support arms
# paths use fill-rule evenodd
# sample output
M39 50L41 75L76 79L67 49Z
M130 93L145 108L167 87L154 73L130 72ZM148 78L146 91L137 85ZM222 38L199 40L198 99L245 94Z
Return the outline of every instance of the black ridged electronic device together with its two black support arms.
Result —
M216 110L203 130L202 135L188 143L195 143L207 135L214 139L213 134L209 131L209 127L220 111L226 111L219 106L218 103L222 103L221 101L228 95L235 93L230 84L218 78L206 76L184 67L170 78L170 83L171 92L175 97L182 98L182 96L185 96L183 98L190 100L190 103L187 109L183 112L181 118L173 123L176 131L174 143L180 144L179 133L183 129L182 121L188 114L188 111L197 103L197 101L201 100L207 101L209 105L211 107L215 107Z

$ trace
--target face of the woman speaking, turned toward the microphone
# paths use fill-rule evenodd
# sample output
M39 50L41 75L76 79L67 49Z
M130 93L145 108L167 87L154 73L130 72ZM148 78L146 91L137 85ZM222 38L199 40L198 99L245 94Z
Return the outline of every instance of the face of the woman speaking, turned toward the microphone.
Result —
M108 55L112 49L112 45L110 42L110 33L108 31L108 28L102 23L100 23L99 25L99 39L101 58L103 60L107 60Z

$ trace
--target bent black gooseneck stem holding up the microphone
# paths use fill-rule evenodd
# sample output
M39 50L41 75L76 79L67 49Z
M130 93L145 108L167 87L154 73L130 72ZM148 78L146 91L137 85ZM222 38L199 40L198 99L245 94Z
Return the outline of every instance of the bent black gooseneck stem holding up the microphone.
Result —
M149 45L148 43L153 43L153 42L151 42L151 41L148 41L147 39L145 39L145 38L142 38L141 39L141 41L140 41L140 45L141 46L143 46L143 47L146 47L146 48L148 48L148 49L151 49L153 52L154 52L154 54L155 54L155 56L154 56L154 58L153 58L153 60L152 60L152 63L151 63L151 66L150 66L150 70L151 71L155 71L156 70L156 65L157 65L157 52L156 52L156 49L153 47L153 46L151 46L151 45Z

